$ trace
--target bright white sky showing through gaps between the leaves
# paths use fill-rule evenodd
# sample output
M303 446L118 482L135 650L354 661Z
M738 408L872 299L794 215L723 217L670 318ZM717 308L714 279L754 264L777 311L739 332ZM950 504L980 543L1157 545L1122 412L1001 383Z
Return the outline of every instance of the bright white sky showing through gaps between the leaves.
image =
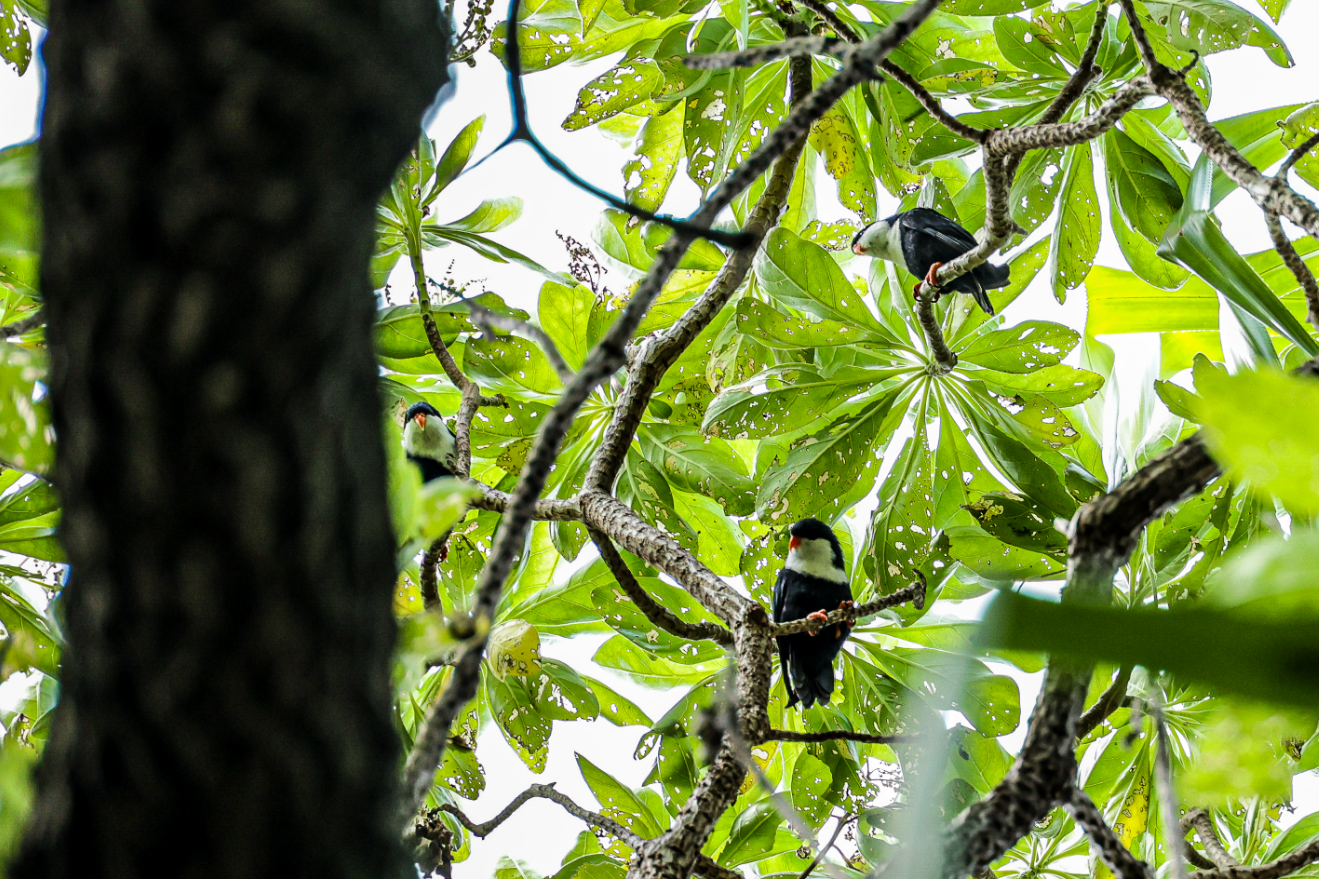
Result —
M1241 5L1258 12L1252 0L1237 0ZM1213 100L1211 117L1223 119L1237 114L1266 107L1315 100L1319 98L1319 53L1308 46L1312 34L1319 33L1319 3L1315 0L1295 0L1291 9L1278 26L1295 54L1297 65L1290 70L1275 67L1258 49L1239 49L1212 55L1208 66L1213 81ZM608 70L615 58L596 61L583 66L559 66L526 78L528 103L532 124L551 150L565 158L580 176L601 189L620 193L623 190L621 166L630 157L630 150L591 128L580 132L565 132L562 120L571 112L578 90L591 78ZM450 100L439 110L430 131L442 150L448 140L468 121L487 115L485 129L476 149L476 156L484 156L509 129L508 98L503 66L487 51L477 55L475 69L459 65L454 69L456 88ZM0 145L20 143L34 136L40 106L40 71L33 63L29 73L18 78L11 69L0 69ZM1293 176L1295 181L1295 177ZM819 187L831 198L831 187ZM1104 187L1099 187L1104 198ZM516 144L492 157L480 169L455 181L442 195L437 210L439 219L456 219L476 207L483 198L517 195L524 199L524 214L514 224L495 232L492 238L513 247L551 269L565 269L567 259L557 231L562 231L579 242L591 243L600 210L604 207L561 177L550 172L541 160L524 144ZM1312 193L1311 193L1312 195ZM683 170L674 178L665 210L685 215L696 206L699 191ZM897 199L880 189L880 211L884 216L893 212ZM1268 231L1258 209L1249 198L1237 190L1219 207L1219 218L1224 231L1241 252L1252 252L1269 247ZM820 206L824 220L842 219L845 211L836 203ZM1107 222L1105 222L1107 227ZM1295 230L1291 230L1293 234ZM459 247L435 251L427 259L430 275L442 277L454 263L452 276L458 281L483 280L495 293L508 302L536 313L536 301L541 278L520 267L499 265L484 260ZM1099 255L1099 263L1125 268L1121 253L1105 228L1105 236ZM1051 319L1076 329L1084 325L1083 290L1075 290L1066 305L1054 302L1045 272L1039 280L1020 297L1009 309L1008 322L1021 319ZM409 289L410 281L398 276L401 289ZM627 286L627 280L617 271L605 276L605 284L616 293ZM401 301L401 296L394 297ZM1227 334L1225 334L1227 337ZM1225 343L1229 341L1225 338ZM1158 344L1145 335L1107 337L1117 354L1117 381L1133 393L1140 383L1146 381L1146 368L1150 358L1157 358ZM562 568L561 568L562 570ZM963 608L959 615L973 615L976 608ZM583 665L603 640L601 636L578 639L576 643L549 639L545 655L570 664ZM1006 667L1000 667L1006 670ZM658 718L681 696L681 690L654 692L632 684L627 678L612 676L605 669L594 668L596 674L621 693L633 698L652 718ZM1022 689L1022 714L1029 713L1038 692L1038 676L1014 673ZM497 731L481 736L477 754L487 771L487 788L480 800L471 804L468 814L476 821L484 821L499 812L516 793L533 781L557 781L558 789L587 806L595 801L578 772L574 751L582 751L620 780L637 785L649 771L650 759L634 762L632 751L641 736L641 727L617 729L604 721L591 725L555 723L550 758L546 771L533 775L504 743ZM1020 746L1024 730L1004 738L1004 744L1014 751ZM1319 806L1319 776L1307 773L1295 780L1297 816L1306 814ZM500 855L508 854L525 859L533 868L553 874L562 854L572 845L583 825L571 818L551 802L536 800L522 806L517 816L496 830L488 839L477 841L472 857L455 867L458 879L477 879L492 874Z

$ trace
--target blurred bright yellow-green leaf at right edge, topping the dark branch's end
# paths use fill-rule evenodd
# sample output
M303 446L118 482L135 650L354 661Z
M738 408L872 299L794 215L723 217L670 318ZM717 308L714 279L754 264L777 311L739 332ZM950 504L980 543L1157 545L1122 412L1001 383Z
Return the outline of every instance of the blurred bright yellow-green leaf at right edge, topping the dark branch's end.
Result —
M1319 383L1282 372L1196 374L1215 459L1297 512L1319 512Z

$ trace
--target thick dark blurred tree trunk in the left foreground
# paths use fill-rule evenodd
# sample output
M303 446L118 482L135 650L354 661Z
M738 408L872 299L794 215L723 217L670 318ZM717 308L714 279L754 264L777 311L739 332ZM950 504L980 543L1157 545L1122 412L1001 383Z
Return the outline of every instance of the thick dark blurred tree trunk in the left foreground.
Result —
M54 0L42 290L73 577L16 876L380 876L379 193L427 0Z

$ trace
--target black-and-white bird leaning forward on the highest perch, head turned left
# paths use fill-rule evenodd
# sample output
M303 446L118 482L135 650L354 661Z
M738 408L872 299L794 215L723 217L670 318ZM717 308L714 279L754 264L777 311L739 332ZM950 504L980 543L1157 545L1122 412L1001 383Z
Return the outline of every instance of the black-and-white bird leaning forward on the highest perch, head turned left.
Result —
M876 220L852 238L853 253L901 263L907 272L929 284L934 284L934 273L940 265L976 245L971 232L929 207L913 207ZM993 314L993 302L985 290L1008 286L1008 273L1006 265L983 263L954 278L946 289L971 294L985 314Z

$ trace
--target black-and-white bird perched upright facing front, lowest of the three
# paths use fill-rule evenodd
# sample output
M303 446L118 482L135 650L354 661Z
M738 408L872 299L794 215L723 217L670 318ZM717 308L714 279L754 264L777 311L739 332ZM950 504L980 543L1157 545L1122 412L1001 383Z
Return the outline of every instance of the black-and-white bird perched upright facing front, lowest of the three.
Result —
M851 604L852 587L834 529L819 519L795 523L787 540L787 562L774 583L774 622L824 619L828 611ZM798 701L805 707L828 705L834 693L834 659L851 630L852 623L835 623L818 632L777 639L789 707Z

